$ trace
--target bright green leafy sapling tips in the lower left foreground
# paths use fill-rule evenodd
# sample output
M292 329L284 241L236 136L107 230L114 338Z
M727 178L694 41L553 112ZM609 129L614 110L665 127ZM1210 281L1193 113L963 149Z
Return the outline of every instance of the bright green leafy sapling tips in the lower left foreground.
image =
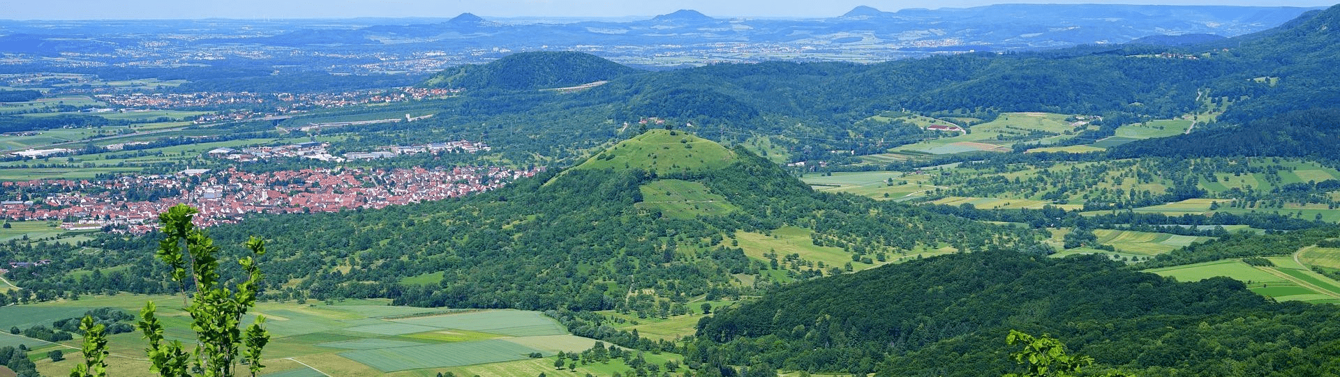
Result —
M200 211L190 206L177 205L158 217L165 235L158 242L158 258L172 267L172 279L181 287L192 329L196 332L196 348L188 353L180 341L163 341L163 326L154 316L155 306L150 301L141 310L139 329L149 340L146 350L151 368L163 377L222 377L234 376L237 364L244 362L249 364L248 369L255 377L264 368L260 364L261 349L269 342L269 333L261 326L265 318L256 316L256 321L245 330L240 325L241 317L256 305L261 279L256 258L265 254L265 242L256 237L247 241L252 255L237 261L247 277L236 287L230 287L218 273L218 246L192 223L197 213ZM194 291L190 294L186 291L188 269L194 282ZM94 325L92 317L86 316L80 328L86 332L86 361L70 376L106 376L107 340L103 326Z

